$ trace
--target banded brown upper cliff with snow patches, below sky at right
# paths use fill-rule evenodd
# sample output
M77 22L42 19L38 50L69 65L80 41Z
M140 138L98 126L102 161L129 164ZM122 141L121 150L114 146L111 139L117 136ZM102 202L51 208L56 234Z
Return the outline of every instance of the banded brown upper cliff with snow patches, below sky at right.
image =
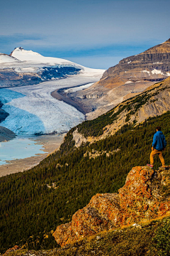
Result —
M135 74L130 76L130 71ZM169 71L170 39L158 46L149 48L149 50L145 50L143 53L120 60L118 65L108 68L103 73L103 77L98 84L112 87L114 85L113 78L118 77L118 75L123 76L125 80L133 80L133 82L137 81L138 78L145 81L161 80L170 75Z

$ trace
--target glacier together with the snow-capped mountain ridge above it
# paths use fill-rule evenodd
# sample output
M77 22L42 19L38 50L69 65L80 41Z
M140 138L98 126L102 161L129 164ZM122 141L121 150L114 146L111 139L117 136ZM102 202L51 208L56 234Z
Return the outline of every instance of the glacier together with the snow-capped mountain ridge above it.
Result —
M32 50L15 48L10 55L0 54L3 74L15 73L26 84L14 86L0 80L0 100L8 117L1 122L17 135L68 132L84 121L84 114L72 105L56 100L51 92L60 88L90 86L100 80L105 70L86 68L60 58L44 57ZM57 74L60 73L60 74ZM34 79L38 82L33 82ZM38 83L38 84L37 84ZM6 87L6 89L4 88ZM75 89L74 89L75 90Z

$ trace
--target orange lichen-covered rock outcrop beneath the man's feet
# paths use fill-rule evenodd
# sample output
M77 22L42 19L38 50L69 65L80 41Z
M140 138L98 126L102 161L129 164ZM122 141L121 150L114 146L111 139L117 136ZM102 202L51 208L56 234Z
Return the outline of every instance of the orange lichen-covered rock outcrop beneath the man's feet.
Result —
M119 193L93 196L86 207L72 216L72 222L57 227L55 240L64 246L102 230L132 225L170 213L169 175L170 169L154 171L147 166L133 168Z

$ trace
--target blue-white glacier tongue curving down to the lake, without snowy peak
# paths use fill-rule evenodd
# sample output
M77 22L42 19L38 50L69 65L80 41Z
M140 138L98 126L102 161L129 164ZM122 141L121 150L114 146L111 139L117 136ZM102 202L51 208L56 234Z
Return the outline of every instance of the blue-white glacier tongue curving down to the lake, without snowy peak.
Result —
M9 113L1 126L16 134L63 133L84 121L84 114L76 108L56 100L51 92L62 87L74 87L96 82L98 75L74 75L70 78L0 89L3 109Z

